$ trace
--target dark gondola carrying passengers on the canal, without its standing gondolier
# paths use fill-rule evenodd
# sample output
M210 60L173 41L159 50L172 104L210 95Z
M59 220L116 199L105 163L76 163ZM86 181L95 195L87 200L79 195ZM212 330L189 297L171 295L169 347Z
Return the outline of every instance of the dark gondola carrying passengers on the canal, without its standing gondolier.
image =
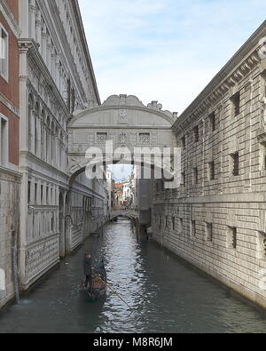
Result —
M103 264L93 269L91 286L85 287L85 280L82 281L81 291L90 301L106 297L106 269Z

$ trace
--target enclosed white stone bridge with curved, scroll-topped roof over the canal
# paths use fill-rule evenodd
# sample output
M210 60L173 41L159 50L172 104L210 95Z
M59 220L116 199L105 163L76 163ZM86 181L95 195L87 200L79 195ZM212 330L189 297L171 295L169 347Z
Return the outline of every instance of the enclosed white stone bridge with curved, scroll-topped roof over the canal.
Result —
M176 113L163 111L157 101L145 106L132 95L113 95L101 106L91 101L87 109L75 112L67 126L69 177L83 172L93 154L101 155L99 163L116 164L122 154L123 164L136 164L135 148L175 148L172 126L176 117Z

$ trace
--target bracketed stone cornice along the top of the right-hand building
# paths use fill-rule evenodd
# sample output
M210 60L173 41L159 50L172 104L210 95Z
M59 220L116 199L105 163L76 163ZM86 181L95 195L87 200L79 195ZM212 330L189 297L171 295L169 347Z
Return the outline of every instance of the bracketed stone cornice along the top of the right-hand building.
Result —
M258 55L259 41L263 36L266 36L266 21L262 23L262 26L255 31L254 35L247 40L246 44L239 49L213 80L207 84L207 87L184 110L184 113L177 118L173 126L175 132L181 132L192 119L205 114L208 108L212 108L226 93L230 93L234 86L243 81L259 65L261 62Z

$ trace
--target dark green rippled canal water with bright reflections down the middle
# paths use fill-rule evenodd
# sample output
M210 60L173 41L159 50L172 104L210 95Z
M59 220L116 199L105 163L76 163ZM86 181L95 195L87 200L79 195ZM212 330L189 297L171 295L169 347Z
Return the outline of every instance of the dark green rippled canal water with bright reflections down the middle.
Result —
M104 258L108 291L91 303L79 293L82 258ZM35 291L0 315L0 332L265 332L264 312L237 299L156 243L137 241L130 222L106 226L60 263Z

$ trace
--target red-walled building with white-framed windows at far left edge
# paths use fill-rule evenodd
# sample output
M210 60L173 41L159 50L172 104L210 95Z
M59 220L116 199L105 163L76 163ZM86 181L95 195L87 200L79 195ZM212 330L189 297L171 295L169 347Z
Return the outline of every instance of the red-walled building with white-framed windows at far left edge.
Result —
M0 1L0 307L13 297L19 215L19 0Z

